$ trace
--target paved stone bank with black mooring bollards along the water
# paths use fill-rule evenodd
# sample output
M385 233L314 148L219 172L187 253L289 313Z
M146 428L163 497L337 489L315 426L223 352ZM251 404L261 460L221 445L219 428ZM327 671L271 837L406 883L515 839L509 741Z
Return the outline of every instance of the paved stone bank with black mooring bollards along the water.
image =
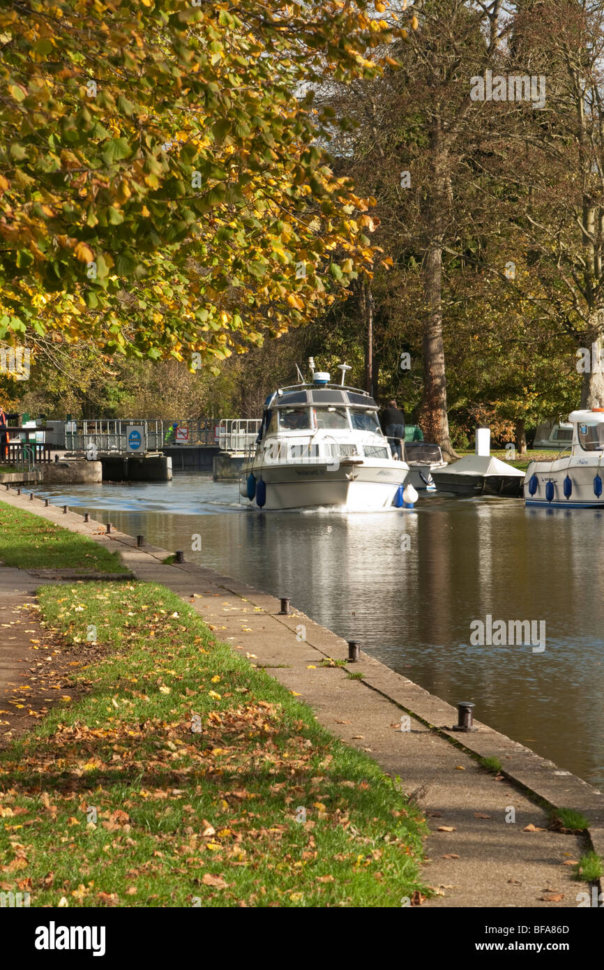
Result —
M139 549L132 536L108 534L103 524L86 524L79 515L13 493L2 499L119 549L139 579L192 600L214 635L267 669L321 724L399 778L432 829L426 878L439 894L425 905L579 904L585 884L573 881L570 863L587 847L577 835L549 829L547 811L535 799L584 813L592 847L604 855L604 800L587 783L478 722L476 733L456 734L450 730L454 708L365 655L351 667L363 679L350 679L328 661L346 659L345 641L298 611L280 614L277 598L203 566L165 565L169 550ZM489 773L478 758L497 759L502 770Z

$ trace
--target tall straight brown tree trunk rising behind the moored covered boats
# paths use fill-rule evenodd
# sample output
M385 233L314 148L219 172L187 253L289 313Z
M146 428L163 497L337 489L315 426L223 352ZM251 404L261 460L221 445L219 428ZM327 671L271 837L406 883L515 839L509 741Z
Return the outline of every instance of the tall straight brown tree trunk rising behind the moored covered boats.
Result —
M455 461L456 454L449 436L447 416L447 380L442 339L442 249L446 211L450 203L447 177L448 154L442 143L440 120L432 122L430 133L433 179L426 203L428 245L422 263L422 284L427 307L424 325L424 395L420 404L420 422L424 437L440 445L443 457Z

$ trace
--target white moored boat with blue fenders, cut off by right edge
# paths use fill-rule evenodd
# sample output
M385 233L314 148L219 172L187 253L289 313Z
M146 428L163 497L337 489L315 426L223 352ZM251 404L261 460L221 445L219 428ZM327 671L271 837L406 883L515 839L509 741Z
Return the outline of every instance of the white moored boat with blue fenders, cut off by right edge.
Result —
M604 457L604 408L571 411L569 454L549 462L531 462L525 475L525 503L591 508L604 505L601 463Z

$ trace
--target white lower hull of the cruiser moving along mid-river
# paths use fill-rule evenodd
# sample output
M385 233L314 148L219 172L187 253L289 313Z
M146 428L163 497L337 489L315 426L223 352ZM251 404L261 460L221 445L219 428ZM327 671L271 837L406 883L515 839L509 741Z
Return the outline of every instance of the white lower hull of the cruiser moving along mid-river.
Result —
M345 508L348 511L375 511L390 508L397 489L407 476L404 462L367 466L342 462L337 469L323 464L264 465L255 463L244 469L252 472L266 487L264 509ZM252 500L258 505L258 494Z

